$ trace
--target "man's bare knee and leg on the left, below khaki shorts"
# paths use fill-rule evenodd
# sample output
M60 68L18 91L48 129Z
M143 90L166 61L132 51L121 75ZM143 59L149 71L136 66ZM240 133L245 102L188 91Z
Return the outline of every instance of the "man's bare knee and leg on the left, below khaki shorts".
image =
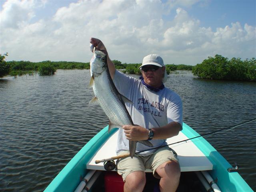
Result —
M143 171L135 171L125 178L124 192L142 192L146 184L146 175Z

